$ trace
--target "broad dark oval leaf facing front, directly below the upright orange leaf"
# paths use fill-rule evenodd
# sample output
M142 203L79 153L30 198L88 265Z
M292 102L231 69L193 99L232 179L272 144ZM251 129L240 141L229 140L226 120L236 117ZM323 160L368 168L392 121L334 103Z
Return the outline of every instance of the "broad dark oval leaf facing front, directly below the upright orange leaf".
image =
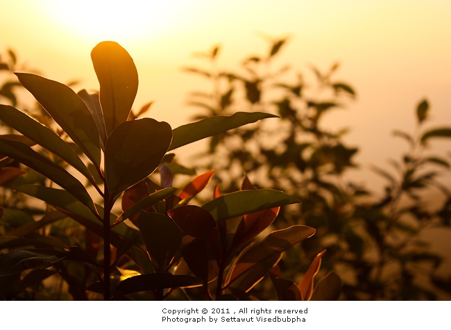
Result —
M171 140L167 122L142 118L119 124L105 146L105 179L110 196L116 197L155 171Z

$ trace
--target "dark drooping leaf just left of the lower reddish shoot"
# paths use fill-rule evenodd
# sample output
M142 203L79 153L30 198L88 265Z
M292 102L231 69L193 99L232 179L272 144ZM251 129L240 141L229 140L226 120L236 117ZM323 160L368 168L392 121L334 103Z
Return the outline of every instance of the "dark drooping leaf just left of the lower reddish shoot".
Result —
M167 215L146 213L138 216L138 227L156 272L165 272L182 242L182 231Z

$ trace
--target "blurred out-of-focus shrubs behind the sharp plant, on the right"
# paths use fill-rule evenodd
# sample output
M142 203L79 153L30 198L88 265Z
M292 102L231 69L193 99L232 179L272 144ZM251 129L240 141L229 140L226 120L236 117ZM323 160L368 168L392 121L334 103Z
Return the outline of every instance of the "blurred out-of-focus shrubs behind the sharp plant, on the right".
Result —
M196 118L237 109L280 116L278 122L214 135L199 165L216 170L225 191L236 190L245 172L256 186L283 189L302 201L284 208L273 226L304 224L316 229L298 254L309 260L327 249L323 265L341 274L341 299L436 299L437 292L451 294L451 277L436 275L442 257L420 238L425 228L450 226L451 194L439 170L449 170L450 163L429 155L427 143L450 138L451 127L425 129L429 104L420 101L415 133L394 132L408 142L409 151L391 162L397 174L373 167L388 182L382 198L373 195L345 178L348 169L357 167L358 151L343 141L346 129L323 128L328 113L355 99L354 88L334 78L338 64L326 72L311 67L314 79L308 81L287 66L273 69L286 42L271 40L266 55L248 56L239 71L219 67L219 47L198 53L206 69L185 68L212 86L210 92L190 95L189 104L203 109ZM428 207L431 193L445 199L439 208ZM307 272L298 254L287 254L280 263L284 274ZM426 285L418 278L426 278Z

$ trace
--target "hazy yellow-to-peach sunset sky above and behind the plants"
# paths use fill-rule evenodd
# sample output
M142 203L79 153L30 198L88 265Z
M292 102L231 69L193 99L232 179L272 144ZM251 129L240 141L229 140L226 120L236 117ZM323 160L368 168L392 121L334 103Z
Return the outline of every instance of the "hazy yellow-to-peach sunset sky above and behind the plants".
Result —
M127 7L124 6L127 4ZM198 65L194 51L221 44L220 65L264 53L262 33L289 36L278 57L301 71L326 70L339 61L337 78L357 99L326 119L350 127L345 140L359 146L358 182L382 186L370 165L387 167L407 145L394 129L415 129L414 109L431 106L430 127L451 124L451 1L449 0L0 0L0 51L12 48L46 78L98 89L90 51L103 40L125 47L139 72L135 108L155 101L149 116L176 127L196 111L187 93L200 80L182 72ZM450 151L444 142L432 145ZM191 151L180 150L180 156Z

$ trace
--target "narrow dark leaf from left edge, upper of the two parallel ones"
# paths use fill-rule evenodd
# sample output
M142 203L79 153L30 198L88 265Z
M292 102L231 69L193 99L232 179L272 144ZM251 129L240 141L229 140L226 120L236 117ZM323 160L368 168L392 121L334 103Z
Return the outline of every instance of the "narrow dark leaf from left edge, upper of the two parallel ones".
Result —
M12 106L0 105L0 119L16 131L24 134L27 138L35 141L41 147L65 160L69 165L83 174L92 184L95 184L91 172L87 169L83 161L78 158L74 149L69 147L51 129Z

